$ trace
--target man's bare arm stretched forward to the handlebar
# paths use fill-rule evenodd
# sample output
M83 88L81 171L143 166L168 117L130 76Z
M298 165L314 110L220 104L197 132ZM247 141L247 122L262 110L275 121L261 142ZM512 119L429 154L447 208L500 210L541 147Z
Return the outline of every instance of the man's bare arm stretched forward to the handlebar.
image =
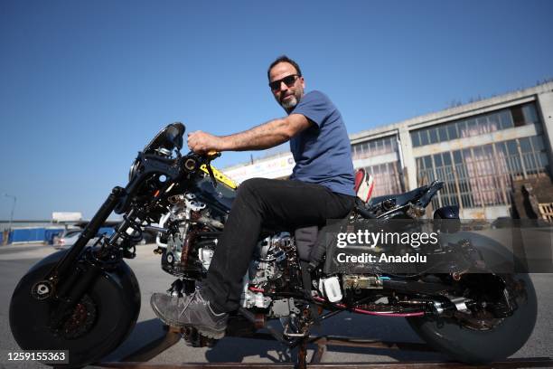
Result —
M219 137L196 131L188 135L188 147L198 153L262 150L288 141L312 124L314 123L302 114L290 114L286 118L270 120L258 127L229 136Z

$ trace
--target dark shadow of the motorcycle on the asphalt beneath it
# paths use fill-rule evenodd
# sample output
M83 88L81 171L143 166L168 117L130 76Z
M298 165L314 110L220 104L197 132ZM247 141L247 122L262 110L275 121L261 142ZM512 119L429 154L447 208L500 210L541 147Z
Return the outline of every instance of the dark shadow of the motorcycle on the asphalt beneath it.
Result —
M277 325L278 322L272 322ZM260 331L265 332L265 331ZM422 343L403 318L392 317L361 317L344 313L325 321L323 325L314 329L316 336L351 336L381 341L401 341ZM146 345L156 338L165 335L163 325L159 319L150 319L136 325L127 340L116 351L106 356L103 362L122 360L136 349ZM179 343L180 345L181 343ZM308 346L308 360L314 354L316 345ZM290 363L295 361L296 349L290 350L276 340L225 337L210 349L192 348L191 350L204 351L205 361L210 363L242 363L242 362L273 362ZM184 354L184 353L183 353ZM200 354L200 352L198 353ZM375 357L378 356L378 357ZM348 347L329 345L323 355L323 363L333 362L338 358L343 362L362 362L363 358L376 361L447 361L445 355L427 351L407 351L388 348ZM176 358L181 359L180 357ZM335 359L334 359L335 360Z

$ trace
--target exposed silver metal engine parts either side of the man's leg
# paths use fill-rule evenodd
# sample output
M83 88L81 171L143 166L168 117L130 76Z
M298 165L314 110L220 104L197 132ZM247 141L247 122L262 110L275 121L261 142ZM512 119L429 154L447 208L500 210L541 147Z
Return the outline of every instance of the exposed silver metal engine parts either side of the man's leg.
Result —
M160 221L160 226L168 232L157 237L162 268L183 279L205 277L223 220L214 219L206 203L192 193L171 196L169 201L173 206ZM267 237L258 242L244 276L241 304L243 307L271 307L273 317L286 316L296 310L294 299L273 302L262 291L292 290L299 280L294 238L288 232Z

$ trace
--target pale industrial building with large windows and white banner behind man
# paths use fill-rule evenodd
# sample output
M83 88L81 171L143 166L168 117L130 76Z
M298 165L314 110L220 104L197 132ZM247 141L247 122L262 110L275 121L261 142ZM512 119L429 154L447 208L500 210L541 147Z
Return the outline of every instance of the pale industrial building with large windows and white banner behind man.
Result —
M353 166L374 178L373 196L398 194L435 179L434 207L455 204L461 217L513 214L520 192L553 196L553 82L351 134ZM286 178L292 154L224 169L237 182ZM553 199L546 199L551 203ZM519 206L521 208L522 206Z

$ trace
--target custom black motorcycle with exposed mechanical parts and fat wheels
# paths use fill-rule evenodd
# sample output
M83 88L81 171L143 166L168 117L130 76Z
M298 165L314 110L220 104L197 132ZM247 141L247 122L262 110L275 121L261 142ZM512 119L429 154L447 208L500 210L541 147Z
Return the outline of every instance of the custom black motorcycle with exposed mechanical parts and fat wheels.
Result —
M183 133L181 123L162 129L138 153L127 186L112 190L79 241L44 258L20 280L9 314L23 349L69 350L68 367L97 362L115 350L140 310L138 281L125 259L136 257L145 232L157 234L154 251L162 269L176 277L167 293L182 296L201 285L237 186L211 166L220 154L182 155ZM333 230L365 220L416 221L442 186L434 182L407 194L360 201ZM87 246L112 212L122 214L115 232ZM445 207L434 216L455 221L457 214L455 207ZM516 265L504 273L486 265L488 257L518 262L492 240L434 248L435 256L455 254L447 259L446 272L402 272L378 263L336 271L324 233L333 232L316 226L264 230L229 329L234 320L245 321L252 330L265 327L280 342L295 345L324 317L341 311L406 317L426 343L470 364L512 355L530 337L537 315L532 282ZM192 327L183 328L183 337L194 345L210 341Z

